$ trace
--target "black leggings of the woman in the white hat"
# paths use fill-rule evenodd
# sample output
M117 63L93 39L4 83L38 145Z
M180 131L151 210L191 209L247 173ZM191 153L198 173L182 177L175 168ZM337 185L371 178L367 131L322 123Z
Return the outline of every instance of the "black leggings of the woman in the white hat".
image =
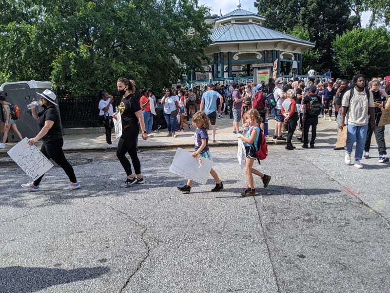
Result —
M63 145L64 145L64 141L61 138L55 141L43 143L42 147L40 148L40 151L49 160L53 159L53 161L56 162L59 167L64 169L66 175L68 175L69 177L69 180L73 183L76 183L77 179L76 179L75 171L73 170L73 167L69 164L69 162L65 158L65 154L62 150ZM34 181L35 186L39 185L40 181L43 178L43 175Z

